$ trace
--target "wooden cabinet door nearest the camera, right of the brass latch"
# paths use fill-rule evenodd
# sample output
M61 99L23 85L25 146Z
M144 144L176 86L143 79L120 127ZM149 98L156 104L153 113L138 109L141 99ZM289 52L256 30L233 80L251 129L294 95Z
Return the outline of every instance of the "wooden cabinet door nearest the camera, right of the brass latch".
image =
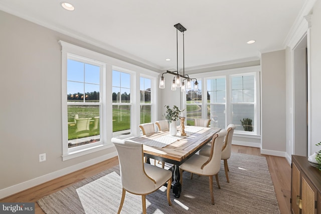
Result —
M317 191L312 186L308 178L302 173L302 214L316 214Z

